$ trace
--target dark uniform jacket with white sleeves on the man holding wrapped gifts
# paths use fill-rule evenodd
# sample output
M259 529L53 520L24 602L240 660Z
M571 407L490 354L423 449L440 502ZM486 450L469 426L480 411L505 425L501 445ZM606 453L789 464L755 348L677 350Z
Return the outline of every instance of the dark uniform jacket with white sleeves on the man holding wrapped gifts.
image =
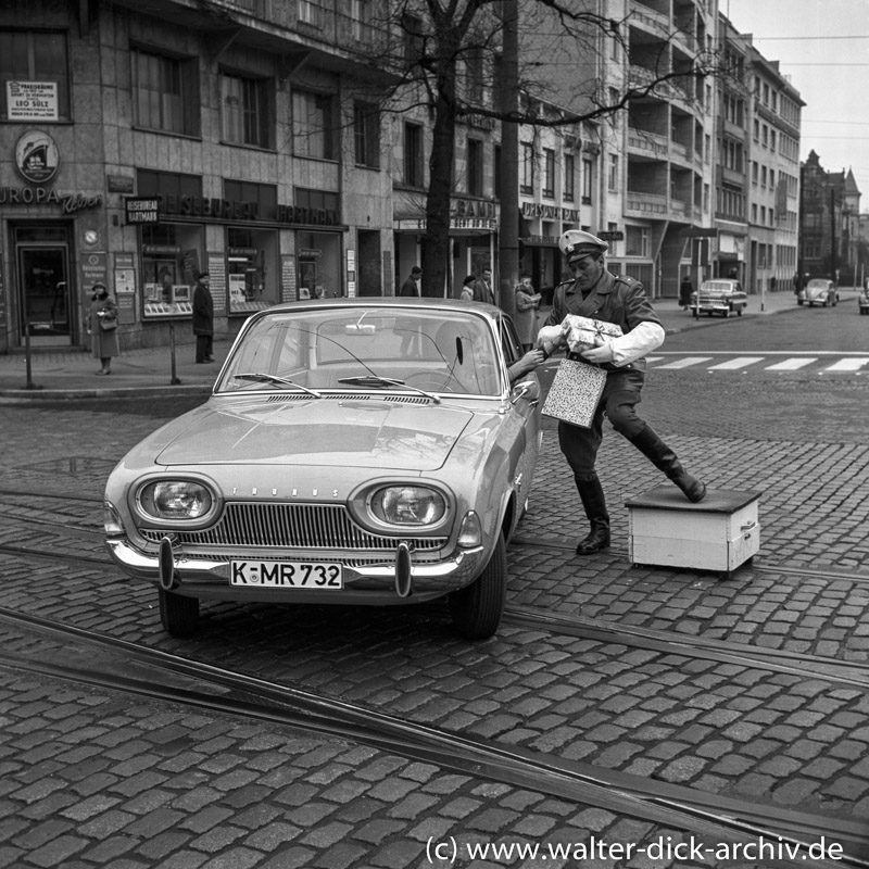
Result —
M652 307L643 285L633 278L617 278L604 270L585 299L582 298L577 281L559 284L555 288L552 311L544 325L559 326L568 314L601 319L621 327L624 336L612 341L613 363L602 366L606 370L643 371L645 360L642 357L664 342L664 327L658 315Z

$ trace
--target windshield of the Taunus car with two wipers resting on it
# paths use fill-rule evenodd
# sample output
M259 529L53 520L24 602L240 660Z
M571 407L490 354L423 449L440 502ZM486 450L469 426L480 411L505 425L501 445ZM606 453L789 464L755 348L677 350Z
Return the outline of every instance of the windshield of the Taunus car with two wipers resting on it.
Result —
M467 311L313 307L256 319L234 348L218 392L325 390L499 395L489 322Z

